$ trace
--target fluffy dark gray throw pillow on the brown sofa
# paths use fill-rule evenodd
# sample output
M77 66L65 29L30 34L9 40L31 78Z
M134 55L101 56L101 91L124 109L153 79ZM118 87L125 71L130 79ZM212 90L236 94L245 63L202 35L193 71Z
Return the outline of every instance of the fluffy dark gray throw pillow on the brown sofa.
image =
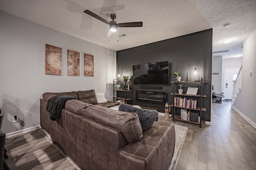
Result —
M158 111L149 110L149 109L140 109L137 107L132 107L130 105L126 105L121 103L118 107L119 111L137 113L140 120L140 125L142 127L142 131L144 132L148 128L151 128L154 121L158 117Z

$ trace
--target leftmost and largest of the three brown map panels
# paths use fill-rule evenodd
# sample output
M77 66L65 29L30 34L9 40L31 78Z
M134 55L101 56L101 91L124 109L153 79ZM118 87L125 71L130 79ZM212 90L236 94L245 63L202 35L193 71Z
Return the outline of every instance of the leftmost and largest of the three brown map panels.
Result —
M45 74L61 75L62 49L45 44Z

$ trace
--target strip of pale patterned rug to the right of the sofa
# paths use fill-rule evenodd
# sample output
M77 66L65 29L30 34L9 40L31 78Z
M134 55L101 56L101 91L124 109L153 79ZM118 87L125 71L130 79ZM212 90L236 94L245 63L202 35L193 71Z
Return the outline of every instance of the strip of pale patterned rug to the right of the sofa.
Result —
M175 149L172 157L172 162L168 170L175 170L176 164L178 162L178 158L180 156L180 151L188 131L188 127L183 127L180 125L174 125L174 126L175 126Z

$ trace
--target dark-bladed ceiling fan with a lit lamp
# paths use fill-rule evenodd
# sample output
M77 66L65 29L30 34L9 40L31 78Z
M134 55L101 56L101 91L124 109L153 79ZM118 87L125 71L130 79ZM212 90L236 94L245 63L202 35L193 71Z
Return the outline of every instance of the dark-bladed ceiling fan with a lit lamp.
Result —
M112 21L108 22L107 20L105 20L104 18L101 18L100 16L98 16L97 14L94 14L93 12L89 11L89 10L85 10L84 13L110 25L109 26L109 30L111 32L116 32L117 27L142 27L142 22L126 22L126 23L119 23L117 24L114 19L116 19L116 14L110 14L110 18L112 19Z

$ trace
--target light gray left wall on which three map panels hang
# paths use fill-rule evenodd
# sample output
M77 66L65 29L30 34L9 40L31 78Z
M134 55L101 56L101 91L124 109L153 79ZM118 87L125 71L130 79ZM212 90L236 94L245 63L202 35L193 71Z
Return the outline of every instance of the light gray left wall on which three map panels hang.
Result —
M116 51L63 34L0 11L1 131L14 132L40 125L40 99L45 92L95 89L112 100ZM86 31L86 30L85 30ZM62 75L46 75L45 44L62 48ZM80 76L67 75L67 49L80 52ZM83 76L83 53L94 55L94 77ZM12 117L19 116L19 123Z

